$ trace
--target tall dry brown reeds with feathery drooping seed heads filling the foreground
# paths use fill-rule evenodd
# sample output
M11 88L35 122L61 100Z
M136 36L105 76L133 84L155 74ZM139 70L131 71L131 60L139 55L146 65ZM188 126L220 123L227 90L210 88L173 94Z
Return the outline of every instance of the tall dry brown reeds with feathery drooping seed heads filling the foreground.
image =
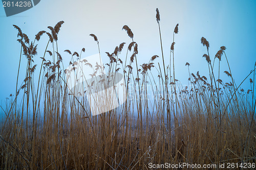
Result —
M158 9L156 18L161 41ZM114 110L92 116L86 97L69 95L65 83L65 68L57 44L62 23L48 27L50 32L40 31L34 41L14 26L21 44L20 60L27 60L27 69L21 85L19 72L24 70L18 67L17 72L16 96L22 100L16 100L14 95L6 109L2 108L5 119L0 136L1 168L148 169L150 162L255 163L255 66L248 75L252 79L244 80L252 86L247 93L240 88L241 84L236 85L230 68L225 71L230 82L222 82L220 62L228 63L226 47L220 47L210 57L209 42L202 37L208 78L199 72L190 73L186 63L189 86L182 87L175 79L174 38L178 24L170 44L169 61L164 60L162 52L161 57L155 55L142 65L137 63L138 45L133 32L123 26L132 40L124 52L126 58L118 57L125 50L125 43L121 43L114 53L106 53L110 63L105 69L124 75L129 100ZM42 35L47 35L49 41L36 67L35 42ZM99 45L97 37L91 36ZM80 54L65 52L71 55L74 65L84 51L83 48ZM163 67L154 62L163 62ZM217 74L214 67L219 67ZM155 72L157 78L153 76ZM35 79L34 74L39 78ZM150 91L153 100L149 99Z

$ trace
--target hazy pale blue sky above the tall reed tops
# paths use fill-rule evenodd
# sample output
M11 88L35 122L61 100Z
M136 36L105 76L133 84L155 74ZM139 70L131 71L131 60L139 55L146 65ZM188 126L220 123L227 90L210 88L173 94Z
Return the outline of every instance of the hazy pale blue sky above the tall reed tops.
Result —
M131 39L122 30L127 25L134 33L134 41L138 43L137 60L142 64L147 63L153 55L161 56L156 8L160 11L164 58L167 63L173 30L179 23L179 33L175 37L175 69L177 79L184 85L188 78L186 62L189 62L191 72L199 70L201 76L208 76L208 66L202 58L207 51L201 44L201 37L209 41L211 59L220 46L227 47L226 54L237 84L253 69L256 61L256 1L41 0L34 8L10 17L6 17L4 8L0 7L0 104L3 105L5 98L15 93L20 45L16 41L17 30L13 24L33 40L39 31L49 31L48 26L55 26L60 20L65 21L58 36L59 52L65 66L70 61L70 56L63 53L66 49L80 52L85 47L83 57L98 53L97 44L90 34L98 37L102 55L104 52L112 53L121 42L129 44ZM46 44L47 37L44 36L38 43L38 57L42 57ZM120 57L124 59L125 52ZM106 55L102 56L102 60L108 62ZM161 59L156 62L162 63ZM25 57L21 69L25 72ZM225 70L228 68L223 58L220 78L229 82L230 78L223 73ZM21 76L24 74L21 73ZM20 80L23 79L20 77ZM247 80L243 88L247 91L249 87Z

